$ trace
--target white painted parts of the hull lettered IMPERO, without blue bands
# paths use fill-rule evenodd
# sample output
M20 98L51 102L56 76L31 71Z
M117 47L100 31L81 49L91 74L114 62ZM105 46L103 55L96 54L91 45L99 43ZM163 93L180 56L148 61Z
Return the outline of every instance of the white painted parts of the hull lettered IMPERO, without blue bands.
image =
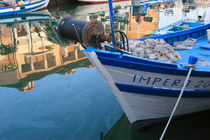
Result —
M165 96L162 94L161 96L156 96L153 94L156 93L148 93L148 91L144 92L143 89L139 89L138 93L129 92L123 90L118 86L116 83L123 83L126 85L133 85L134 87L142 86L146 87L146 89L160 89L163 85L165 85L164 90L175 90L177 92L178 89L181 88L185 76L174 76L174 75L167 75L167 74L157 74L152 72L144 72L144 71L136 71L136 70L130 70L126 68L119 68L115 66L110 65L104 65L101 63L101 61L98 59L96 53L93 51L86 51L86 56L89 58L89 60L97 67L97 69L102 73L102 75L105 77L105 79L108 81L109 86L112 88L113 93L115 94L117 100L121 104L124 112L126 113L129 121L131 123L135 123L137 121L143 121L143 120L150 120L150 119L161 119L165 117L169 117L171 114L171 111L175 105L175 102L177 100L177 95L173 96L173 93L167 93L170 94L170 96ZM137 80L137 78L133 78L133 75L135 74L143 74L150 76L150 80L142 80L140 81L140 78ZM129 78L130 77L130 78ZM155 80L154 77L161 78L159 80ZM148 77L144 77L144 79L148 79ZM174 82L174 80L179 79L179 82L175 82L176 84L170 83L171 81ZM188 87L186 91L192 92L192 91L209 91L210 92L210 78L205 77L192 77L191 82L189 82ZM206 86L203 86L204 84L199 85L199 81L204 80ZM138 82L137 82L138 81ZM119 84L120 85L120 84ZM173 86L172 86L173 85ZM175 85L175 87L174 87ZM157 91L158 91L157 90ZM132 90L131 90L132 91ZM155 92L155 90L154 90ZM159 92L159 91L158 91ZM197 94L194 94L197 96ZM191 96L191 95L190 95ZM199 97L185 97L182 98L180 101L180 104L175 112L175 116L178 115L186 115L193 112L198 111L204 111L210 108L210 97L206 98L199 98Z

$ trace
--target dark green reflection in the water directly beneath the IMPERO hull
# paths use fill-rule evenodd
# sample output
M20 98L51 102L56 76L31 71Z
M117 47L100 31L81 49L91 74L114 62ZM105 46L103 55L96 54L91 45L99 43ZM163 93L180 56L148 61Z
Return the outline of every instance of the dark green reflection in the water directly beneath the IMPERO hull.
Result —
M168 128L165 139L209 139L209 117L210 111L205 111L176 119ZM165 125L158 124L142 131L135 131L124 114L102 140L156 140L160 138Z

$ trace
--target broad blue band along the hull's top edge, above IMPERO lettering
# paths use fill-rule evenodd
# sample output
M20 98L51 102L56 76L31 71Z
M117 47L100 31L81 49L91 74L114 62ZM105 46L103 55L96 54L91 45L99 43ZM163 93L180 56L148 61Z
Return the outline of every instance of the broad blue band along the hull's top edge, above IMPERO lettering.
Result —
M186 76L188 72L188 69L180 64L163 63L113 52L110 52L111 54L108 55L98 50L95 50L95 52L103 65L177 76ZM210 78L210 72L195 70L191 76Z

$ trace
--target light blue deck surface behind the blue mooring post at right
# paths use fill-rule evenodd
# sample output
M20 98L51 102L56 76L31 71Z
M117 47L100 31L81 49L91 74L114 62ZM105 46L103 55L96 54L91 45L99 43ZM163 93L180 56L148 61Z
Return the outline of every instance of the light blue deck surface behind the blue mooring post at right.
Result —
M189 57L195 56L199 60L204 60L202 64L201 61L198 62L199 67L197 67L197 70L210 71L210 43L208 43L207 37L197 40L193 49L177 50L177 52L182 56L182 59L176 62L177 64L188 63Z

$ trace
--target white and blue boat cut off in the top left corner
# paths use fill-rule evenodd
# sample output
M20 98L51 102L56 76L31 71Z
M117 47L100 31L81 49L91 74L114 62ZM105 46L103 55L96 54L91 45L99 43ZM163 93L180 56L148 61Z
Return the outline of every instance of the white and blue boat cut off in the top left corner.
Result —
M20 14L25 13L29 11L36 11L43 9L47 7L49 3L49 0L35 0L31 3L29 0L23 1L21 5L16 5L16 8L13 8L12 6L4 6L0 7L0 16L5 15L12 15L12 14ZM4 5L4 3L0 3L1 5Z

